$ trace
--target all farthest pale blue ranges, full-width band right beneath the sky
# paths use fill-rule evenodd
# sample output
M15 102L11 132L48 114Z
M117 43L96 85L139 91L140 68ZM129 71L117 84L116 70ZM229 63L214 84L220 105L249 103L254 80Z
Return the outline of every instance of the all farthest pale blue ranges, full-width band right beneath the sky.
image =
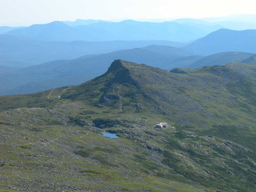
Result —
M22 34L39 40L171 40L188 42L207 34L228 28L230 30L256 29L255 15L229 15L228 17L180 18L172 21L145 22L124 20L54 21L49 24L34 24L30 27L0 27L0 34ZM15 30L18 29L18 30ZM121 32L121 33L120 33Z

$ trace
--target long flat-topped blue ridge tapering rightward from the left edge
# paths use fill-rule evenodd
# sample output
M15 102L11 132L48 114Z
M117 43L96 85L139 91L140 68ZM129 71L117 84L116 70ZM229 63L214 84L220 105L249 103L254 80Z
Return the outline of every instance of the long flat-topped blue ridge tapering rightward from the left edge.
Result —
M25 36L0 35L0 65L31 66L59 59L75 59L83 55L109 53L151 44L184 46L173 41L40 41Z

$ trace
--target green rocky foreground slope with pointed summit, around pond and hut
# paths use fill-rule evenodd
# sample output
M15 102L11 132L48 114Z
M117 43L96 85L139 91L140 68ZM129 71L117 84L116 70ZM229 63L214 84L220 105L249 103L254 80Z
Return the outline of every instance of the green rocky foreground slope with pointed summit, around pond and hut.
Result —
M116 60L82 85L0 97L1 190L253 191L255 79L239 68Z

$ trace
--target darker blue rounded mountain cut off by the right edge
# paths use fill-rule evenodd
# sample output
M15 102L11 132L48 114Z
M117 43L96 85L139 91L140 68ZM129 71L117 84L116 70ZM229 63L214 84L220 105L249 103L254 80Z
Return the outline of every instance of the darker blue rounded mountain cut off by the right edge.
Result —
M256 53L255 44L256 30L220 29L183 48L207 56L220 52Z

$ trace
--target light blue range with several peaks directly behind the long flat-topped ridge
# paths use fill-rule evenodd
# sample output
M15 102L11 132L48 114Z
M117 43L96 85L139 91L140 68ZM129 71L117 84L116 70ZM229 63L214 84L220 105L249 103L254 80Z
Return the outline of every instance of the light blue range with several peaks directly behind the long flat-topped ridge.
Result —
M175 22L150 23L133 20L96 22L70 26L60 21L36 24L9 31L9 35L23 35L47 41L112 41L112 40L169 40L187 42L216 31L219 25L180 24Z

